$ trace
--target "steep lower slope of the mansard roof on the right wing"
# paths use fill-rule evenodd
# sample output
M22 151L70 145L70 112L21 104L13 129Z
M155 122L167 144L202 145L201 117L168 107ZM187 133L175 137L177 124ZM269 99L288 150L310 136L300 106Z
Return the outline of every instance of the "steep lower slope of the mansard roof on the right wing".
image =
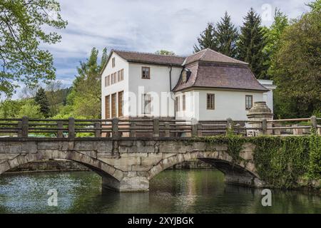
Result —
M246 65L195 62L185 68L191 71L190 77L186 83L180 78L174 91L190 87L267 91Z

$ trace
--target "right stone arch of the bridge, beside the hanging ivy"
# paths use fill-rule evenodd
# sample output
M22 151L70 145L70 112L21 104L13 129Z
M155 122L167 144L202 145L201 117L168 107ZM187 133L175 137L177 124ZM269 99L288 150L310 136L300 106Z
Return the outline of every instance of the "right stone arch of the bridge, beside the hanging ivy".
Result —
M228 152L225 151L185 152L166 157L148 171L148 180L151 180L153 177L169 167L173 167L173 165L195 159L209 163L216 169L223 172L225 175L225 182L257 187L264 185L264 183L260 181L253 164L234 162L233 157L228 155Z

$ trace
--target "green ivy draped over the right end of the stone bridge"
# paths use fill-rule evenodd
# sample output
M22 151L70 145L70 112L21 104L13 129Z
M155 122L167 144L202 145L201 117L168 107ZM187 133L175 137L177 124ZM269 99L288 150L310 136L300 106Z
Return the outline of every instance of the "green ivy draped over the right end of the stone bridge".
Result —
M275 187L298 187L300 181L307 185L321 179L321 137L259 136L245 138L226 136L201 138L208 143L228 145L228 153L235 162L242 160L240 150L245 142L255 145L254 163L261 180Z

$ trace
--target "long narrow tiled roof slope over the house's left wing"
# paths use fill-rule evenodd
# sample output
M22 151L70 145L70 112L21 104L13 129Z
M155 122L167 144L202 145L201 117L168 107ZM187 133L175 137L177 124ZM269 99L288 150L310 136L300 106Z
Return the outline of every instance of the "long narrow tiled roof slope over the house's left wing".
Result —
M153 53L141 53L134 51L118 51L113 50L114 53L121 56L128 62L134 63L151 63L151 64L161 64L161 65L173 65L182 66L185 57L181 56L165 56Z

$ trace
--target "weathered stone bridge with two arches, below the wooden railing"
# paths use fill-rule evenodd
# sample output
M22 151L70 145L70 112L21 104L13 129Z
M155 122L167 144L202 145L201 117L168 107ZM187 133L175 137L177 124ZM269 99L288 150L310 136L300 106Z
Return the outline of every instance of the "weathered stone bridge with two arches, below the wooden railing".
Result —
M225 174L225 181L262 187L253 150L244 145L236 163L226 145L191 138L2 138L0 175L27 162L64 159L79 162L101 175L103 187L119 192L148 191L149 180L180 162L199 159Z

